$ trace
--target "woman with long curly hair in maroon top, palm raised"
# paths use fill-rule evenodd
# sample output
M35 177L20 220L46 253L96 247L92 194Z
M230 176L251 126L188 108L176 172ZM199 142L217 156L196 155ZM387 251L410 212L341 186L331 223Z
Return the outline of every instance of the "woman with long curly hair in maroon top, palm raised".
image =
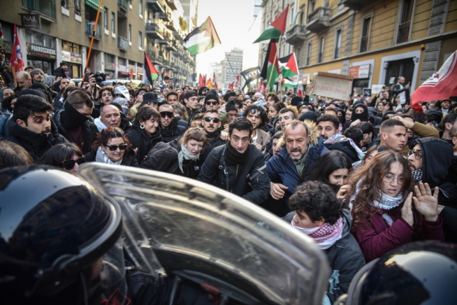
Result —
M438 188L432 195L428 184L419 184L413 196L408 161L400 154L391 150L376 154L353 172L349 184L355 187L346 204L366 261L412 241L443 240Z

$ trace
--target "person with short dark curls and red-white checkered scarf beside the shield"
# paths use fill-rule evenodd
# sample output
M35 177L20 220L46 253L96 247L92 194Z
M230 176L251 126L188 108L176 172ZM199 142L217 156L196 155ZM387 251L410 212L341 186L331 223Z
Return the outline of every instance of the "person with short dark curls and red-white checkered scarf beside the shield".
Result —
M365 259L351 234L351 213L342 209L331 186L306 181L296 188L288 201L292 212L284 219L316 241L328 257L332 274L326 302L333 304L347 293L349 284Z

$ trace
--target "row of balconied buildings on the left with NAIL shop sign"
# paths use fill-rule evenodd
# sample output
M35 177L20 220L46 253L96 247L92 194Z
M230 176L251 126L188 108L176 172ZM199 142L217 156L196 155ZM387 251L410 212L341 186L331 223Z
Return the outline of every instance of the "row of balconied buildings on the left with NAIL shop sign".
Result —
M0 11L0 23L7 59L16 24L26 66L46 74L66 61L71 76L81 77L90 50L91 71L114 79L133 71L141 79L146 51L159 72L187 84L195 59L182 48L183 14L179 0L104 0L100 11L99 0L21 0Z

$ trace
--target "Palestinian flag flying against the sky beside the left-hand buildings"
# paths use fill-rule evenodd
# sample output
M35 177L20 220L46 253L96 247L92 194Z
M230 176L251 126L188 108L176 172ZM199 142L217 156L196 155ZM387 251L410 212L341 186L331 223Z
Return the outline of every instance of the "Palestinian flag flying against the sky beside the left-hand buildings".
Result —
M196 55L208 51L218 44L221 44L221 39L219 39L211 17L208 17L201 26L184 38L183 45L192 55Z

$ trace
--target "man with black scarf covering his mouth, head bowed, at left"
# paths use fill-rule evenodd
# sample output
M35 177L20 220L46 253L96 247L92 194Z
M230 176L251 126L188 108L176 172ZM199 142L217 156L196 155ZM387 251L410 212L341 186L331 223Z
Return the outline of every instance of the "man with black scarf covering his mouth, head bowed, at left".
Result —
M76 144L84 154L91 151L92 142L98 132L91 118L94 101L89 94L77 89L66 98L64 109L56 113L59 133Z

